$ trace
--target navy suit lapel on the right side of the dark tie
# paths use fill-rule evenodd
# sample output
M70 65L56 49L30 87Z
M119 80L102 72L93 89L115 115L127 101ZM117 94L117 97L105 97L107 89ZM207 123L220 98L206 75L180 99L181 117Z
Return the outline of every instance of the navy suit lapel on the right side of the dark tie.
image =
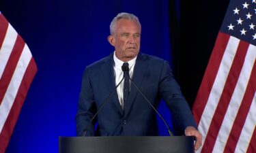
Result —
M144 75L145 69L147 69L147 63L145 63L144 56L139 53L137 56L136 63L134 65L134 73L132 77L134 84L136 84L139 88L143 81L143 75ZM131 83L130 85L130 94L128 97L128 103L126 104L127 109L125 110L125 116L130 111L130 108L132 107L132 104L134 103L135 98L137 97L137 94L139 92L139 90L137 90L134 84Z

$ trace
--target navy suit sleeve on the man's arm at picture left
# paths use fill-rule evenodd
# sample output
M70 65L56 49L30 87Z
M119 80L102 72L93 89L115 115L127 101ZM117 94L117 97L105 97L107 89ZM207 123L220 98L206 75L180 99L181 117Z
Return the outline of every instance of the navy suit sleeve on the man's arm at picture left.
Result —
M83 73L81 92L79 96L78 112L76 114L76 135L84 136L84 131L91 118L96 113L94 92L91 86L89 69ZM89 124L86 136L94 136L94 123Z

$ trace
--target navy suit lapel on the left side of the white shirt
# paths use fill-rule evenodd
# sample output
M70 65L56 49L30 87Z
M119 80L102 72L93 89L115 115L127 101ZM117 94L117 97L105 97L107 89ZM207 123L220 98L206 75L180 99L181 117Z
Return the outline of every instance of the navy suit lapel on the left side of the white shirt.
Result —
M106 58L106 63L104 63L101 67L109 94L111 93L113 88L115 88L115 75L114 75L113 63L114 63L113 54L111 54L108 58ZM111 99L112 99L112 101L111 101ZM115 106L117 107L118 111L121 114L123 114L123 110L119 103L119 99L118 99L116 90L113 93L113 95L111 96L111 99L109 99L109 102L115 103Z

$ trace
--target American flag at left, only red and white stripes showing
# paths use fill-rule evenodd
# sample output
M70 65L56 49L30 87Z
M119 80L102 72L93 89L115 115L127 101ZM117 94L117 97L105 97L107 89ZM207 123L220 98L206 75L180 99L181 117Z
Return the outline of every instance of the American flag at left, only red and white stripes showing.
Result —
M0 153L8 146L36 71L27 44L0 12Z

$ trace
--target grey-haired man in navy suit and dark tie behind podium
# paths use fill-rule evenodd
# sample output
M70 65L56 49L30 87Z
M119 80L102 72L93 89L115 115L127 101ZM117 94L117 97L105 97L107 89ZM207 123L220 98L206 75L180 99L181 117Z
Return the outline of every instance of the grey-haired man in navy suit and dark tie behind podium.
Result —
M127 79L130 75L154 107L158 107L161 98L165 100L184 135L195 136L197 150L201 145L201 134L168 62L139 52L141 24L137 16L117 14L110 31L108 41L115 47L115 52L87 66L83 74L76 116L77 134L83 136L86 131L88 136L158 135L156 113ZM122 67L128 67L128 73L123 72ZM94 133L94 124L89 124L89 121L121 81L97 115Z

